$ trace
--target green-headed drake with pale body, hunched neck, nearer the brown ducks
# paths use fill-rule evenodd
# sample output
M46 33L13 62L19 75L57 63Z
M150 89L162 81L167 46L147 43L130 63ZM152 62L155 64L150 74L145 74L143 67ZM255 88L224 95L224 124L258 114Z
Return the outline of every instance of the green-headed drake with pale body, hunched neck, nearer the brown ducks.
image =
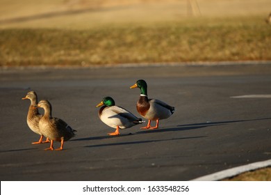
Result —
M115 132L108 133L108 135L119 135L120 129L126 129L144 122L141 118L131 114L130 111L115 106L115 101L110 97L104 98L96 107L101 107L98 113L101 121L109 127L116 128Z

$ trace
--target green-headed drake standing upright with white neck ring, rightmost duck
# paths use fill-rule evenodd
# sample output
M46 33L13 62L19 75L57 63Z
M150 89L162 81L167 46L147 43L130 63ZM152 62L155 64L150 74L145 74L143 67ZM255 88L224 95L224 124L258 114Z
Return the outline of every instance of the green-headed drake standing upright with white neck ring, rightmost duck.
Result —
M145 80L138 80L136 84L130 88L140 88L140 98L136 104L138 113L149 120L146 127L141 129L157 129L159 127L159 120L169 118L174 113L174 107L162 102L161 100L149 99L147 96L147 83ZM156 120L156 126L151 127L151 120Z

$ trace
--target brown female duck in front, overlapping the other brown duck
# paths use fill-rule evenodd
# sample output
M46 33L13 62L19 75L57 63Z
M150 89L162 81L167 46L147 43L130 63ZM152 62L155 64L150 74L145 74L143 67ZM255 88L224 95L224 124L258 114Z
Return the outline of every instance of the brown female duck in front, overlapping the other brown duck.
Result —
M46 148L45 150L54 150L54 141L61 142L60 148L56 150L63 150L64 141L68 141L74 137L76 130L73 130L72 127L60 118L51 116L51 104L49 101L41 100L38 103L38 107L44 109L44 115L39 122L40 132L51 140L50 148Z

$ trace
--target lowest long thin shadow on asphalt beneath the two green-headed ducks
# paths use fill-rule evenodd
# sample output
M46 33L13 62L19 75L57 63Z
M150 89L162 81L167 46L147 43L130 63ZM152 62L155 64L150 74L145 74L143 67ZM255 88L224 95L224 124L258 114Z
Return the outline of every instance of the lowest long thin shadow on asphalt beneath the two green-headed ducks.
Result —
M182 140L182 139L198 139L206 136L197 136L197 137L181 137L181 138L173 138L173 139L158 139L158 140L146 140L146 141L127 141L127 142L118 142L118 143L104 143L97 144L92 146L84 146L87 148L96 148L96 147L104 147L104 146L121 146L121 145L131 145L131 144L140 144L140 143L155 143L161 141L174 141L174 140Z

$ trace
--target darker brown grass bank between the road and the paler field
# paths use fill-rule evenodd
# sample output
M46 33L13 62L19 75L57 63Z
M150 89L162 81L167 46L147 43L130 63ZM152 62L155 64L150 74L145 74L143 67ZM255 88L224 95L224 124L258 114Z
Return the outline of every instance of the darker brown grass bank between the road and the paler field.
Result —
M271 60L261 17L96 26L2 29L0 65L99 65Z

